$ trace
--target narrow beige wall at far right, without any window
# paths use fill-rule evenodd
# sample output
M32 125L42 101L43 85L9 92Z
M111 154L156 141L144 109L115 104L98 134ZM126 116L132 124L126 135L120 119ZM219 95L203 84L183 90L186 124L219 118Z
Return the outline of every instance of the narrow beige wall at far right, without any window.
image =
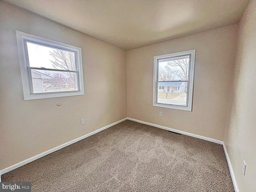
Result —
M234 85L230 94L224 144L240 192L256 191L256 0L239 23ZM243 160L246 175L242 174Z

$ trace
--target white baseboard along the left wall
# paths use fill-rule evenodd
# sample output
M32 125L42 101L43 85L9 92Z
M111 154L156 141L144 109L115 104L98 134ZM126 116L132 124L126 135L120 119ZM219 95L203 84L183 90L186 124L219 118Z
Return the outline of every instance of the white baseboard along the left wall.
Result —
M50 153L52 153L52 152L55 152L55 151L57 151L57 150L60 150L60 149L66 147L66 146L68 146L68 145L71 145L71 144L73 144L73 143L75 143L75 142L78 142L78 141L80 141L80 140L82 140L82 139L84 139L84 138L86 138L86 137L89 137L89 136L91 136L91 135L94 135L94 134L96 134L96 133L98 133L98 132L100 132L100 131L103 131L104 129L107 129L107 128L109 128L109 127L111 127L111 126L114 126L114 125L116 125L116 124L118 124L118 123L120 123L120 122L123 122L123 121L125 121L125 120L127 120L127 118L124 118L124 119L122 119L122 120L119 120L119 121L117 121L117 122L114 122L114 123L112 123L112 124L110 124L110 125L107 125L107 126L102 127L102 128L100 128L100 129L98 129L98 130L95 130L95 131L93 131L93 132L90 132L90 133L88 133L88 134L86 134L86 135L84 135L84 136L78 137L78 138L76 138L76 139L74 139L74 140L71 140L71 141L66 142L66 143L64 143L64 144L61 144L61 145L59 145L59 146L57 146L57 147L54 147L54 148L52 148L52 149L50 149L50 150L47 150L47 151L45 151L45 152L42 152L42 153L40 153L40 154L38 154L38 155L35 155L35 156L33 156L33 157L30 157L30 158L28 158L28 159L26 159L26 160L23 160L23 161L21 161L21 162L18 162L18 163L16 163L16 164L12 165L12 166L9 166L9 167L7 167L7 168L4 168L4 169L0 170L0 182L1 182L1 175L2 175L2 174L5 174L5 173L7 173L7 172L9 172L9 171L11 171L11 170L14 170L14 169L16 169L16 168L18 168L18 167L21 167L21 166L25 165L25 164L28 164L28 163L30 163L30 162L36 160L36 159L39 159L39 158L41 158L41 157L43 157L43 156L46 156L46 155L48 155L48 154L50 154Z

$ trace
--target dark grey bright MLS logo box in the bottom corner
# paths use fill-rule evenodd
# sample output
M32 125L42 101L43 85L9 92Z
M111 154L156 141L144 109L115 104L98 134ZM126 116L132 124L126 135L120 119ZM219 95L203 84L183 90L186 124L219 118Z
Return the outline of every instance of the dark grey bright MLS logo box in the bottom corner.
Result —
M0 192L31 192L31 182L0 182Z

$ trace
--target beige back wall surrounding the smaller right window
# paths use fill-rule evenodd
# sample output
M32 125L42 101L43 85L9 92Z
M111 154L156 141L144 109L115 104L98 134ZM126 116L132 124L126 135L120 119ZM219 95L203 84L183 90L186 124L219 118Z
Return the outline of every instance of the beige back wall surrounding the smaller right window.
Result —
M237 25L232 25L128 51L128 117L223 140L236 35ZM196 49L192 112L152 106L153 57L192 49Z

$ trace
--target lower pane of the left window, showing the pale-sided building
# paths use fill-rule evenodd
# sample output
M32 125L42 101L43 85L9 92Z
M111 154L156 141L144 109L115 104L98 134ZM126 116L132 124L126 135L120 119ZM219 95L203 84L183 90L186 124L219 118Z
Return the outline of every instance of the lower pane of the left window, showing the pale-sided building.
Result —
M77 91L77 73L31 69L33 93Z

